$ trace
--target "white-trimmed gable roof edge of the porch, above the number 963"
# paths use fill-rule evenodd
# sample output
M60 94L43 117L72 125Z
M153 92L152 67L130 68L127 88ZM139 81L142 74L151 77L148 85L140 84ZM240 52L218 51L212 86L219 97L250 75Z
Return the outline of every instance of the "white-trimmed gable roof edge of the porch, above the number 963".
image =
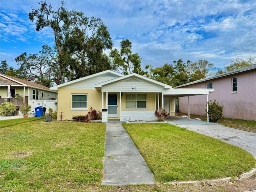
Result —
M106 81L106 82L102 82L102 83L96 84L94 87L95 87L96 89L97 89L97 88L101 88L103 85L110 84L110 83L113 83L113 82L117 82L117 81L120 81L120 80L124 80L124 79L130 78L130 77L137 77L137 78L140 78L140 79L142 79L142 80L146 80L146 81L148 81L148 82L151 82L151 83L154 83L154 84L163 86L163 87L166 88L166 89L172 88L172 86L170 86L170 85L167 85L167 84L158 82L158 81L156 81L156 80L153 80L153 79L144 77L144 76L139 75L139 74L136 74L136 73L131 73L131 74L128 74L128 75L125 75L125 76L120 76L120 77L118 77L118 78L115 78L115 79L112 79L112 80L108 80L108 81Z

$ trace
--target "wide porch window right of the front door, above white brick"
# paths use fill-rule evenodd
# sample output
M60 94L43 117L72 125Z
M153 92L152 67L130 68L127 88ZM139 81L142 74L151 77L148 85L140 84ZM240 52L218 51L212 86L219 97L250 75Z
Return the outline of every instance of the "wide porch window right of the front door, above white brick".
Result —
M126 109L147 108L146 94L126 94Z

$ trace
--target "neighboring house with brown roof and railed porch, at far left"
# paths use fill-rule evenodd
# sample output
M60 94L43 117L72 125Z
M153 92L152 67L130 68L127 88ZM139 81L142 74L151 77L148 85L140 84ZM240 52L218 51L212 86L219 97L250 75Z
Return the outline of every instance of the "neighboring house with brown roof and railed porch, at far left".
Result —
M22 104L30 104L30 113L33 113L34 108L42 105L43 101L46 106L48 100L54 102L52 100L56 100L57 96L56 91L46 86L0 73L1 103L12 102L17 108ZM53 105L50 107L54 108Z

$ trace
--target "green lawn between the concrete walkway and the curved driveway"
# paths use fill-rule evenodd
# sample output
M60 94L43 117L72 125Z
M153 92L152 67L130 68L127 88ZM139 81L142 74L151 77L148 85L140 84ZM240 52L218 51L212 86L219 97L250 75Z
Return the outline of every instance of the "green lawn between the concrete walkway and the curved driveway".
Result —
M255 166L248 152L170 124L123 124L157 182L239 176Z

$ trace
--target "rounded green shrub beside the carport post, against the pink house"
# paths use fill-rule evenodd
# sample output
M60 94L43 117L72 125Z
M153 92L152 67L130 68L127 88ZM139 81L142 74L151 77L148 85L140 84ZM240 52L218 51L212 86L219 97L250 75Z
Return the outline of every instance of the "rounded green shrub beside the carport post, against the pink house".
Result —
M208 114L209 114L210 122L217 122L220 118L222 118L223 106L219 106L219 103L216 102L216 99L214 100L214 102L210 100L210 102L208 102L208 106L209 106ZM205 111L207 116L207 109Z

